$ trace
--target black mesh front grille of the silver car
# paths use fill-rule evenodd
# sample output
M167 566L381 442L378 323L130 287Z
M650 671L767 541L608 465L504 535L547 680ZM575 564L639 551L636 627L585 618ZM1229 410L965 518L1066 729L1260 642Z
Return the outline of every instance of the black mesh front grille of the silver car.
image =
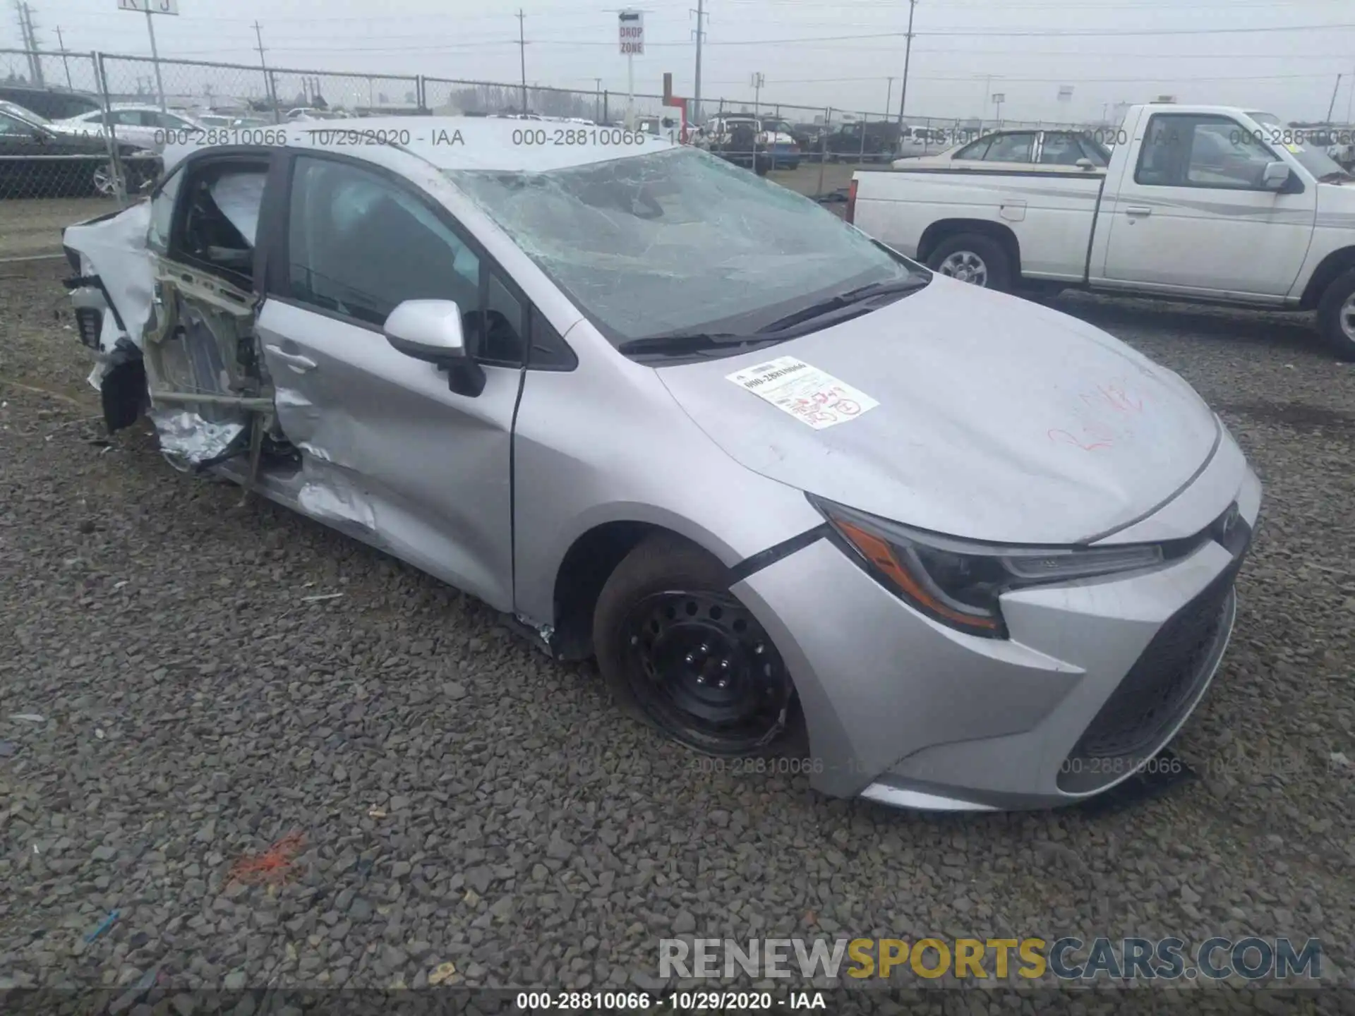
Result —
M1240 538L1237 528L1243 530ZM1233 583L1251 532L1245 522L1236 522L1226 535L1228 549L1236 547L1233 564L1159 629L1083 732L1058 776L1065 792L1096 790L1130 772L1148 752L1161 746L1195 699L1225 635Z

